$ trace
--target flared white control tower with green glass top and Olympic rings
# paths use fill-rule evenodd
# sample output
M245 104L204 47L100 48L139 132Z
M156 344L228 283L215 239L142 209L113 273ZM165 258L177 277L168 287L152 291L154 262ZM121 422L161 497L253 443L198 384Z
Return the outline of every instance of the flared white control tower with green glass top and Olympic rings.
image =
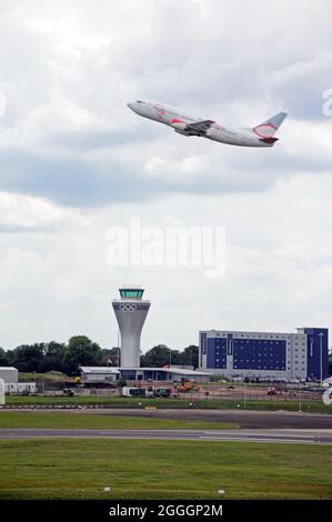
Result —
M123 285L121 299L112 301L121 334L121 367L140 367L141 331L150 309L150 301L142 300L144 289Z

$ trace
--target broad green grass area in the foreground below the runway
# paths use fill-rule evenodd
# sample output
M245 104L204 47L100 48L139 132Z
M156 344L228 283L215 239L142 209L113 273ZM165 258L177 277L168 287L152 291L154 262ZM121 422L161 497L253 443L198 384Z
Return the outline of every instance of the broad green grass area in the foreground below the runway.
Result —
M320 445L2 440L0 499L332 499L331 469Z

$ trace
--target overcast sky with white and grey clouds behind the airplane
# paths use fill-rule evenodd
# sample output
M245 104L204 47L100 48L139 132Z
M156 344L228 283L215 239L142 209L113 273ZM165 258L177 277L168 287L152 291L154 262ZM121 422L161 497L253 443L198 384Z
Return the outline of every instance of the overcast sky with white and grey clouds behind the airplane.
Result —
M123 282L152 300L144 350L199 329L332 328L330 0L0 8L0 345L115 345ZM273 149L241 149L140 119L135 98L224 124L290 116ZM224 228L223 277L112 265L110 230L132 220Z

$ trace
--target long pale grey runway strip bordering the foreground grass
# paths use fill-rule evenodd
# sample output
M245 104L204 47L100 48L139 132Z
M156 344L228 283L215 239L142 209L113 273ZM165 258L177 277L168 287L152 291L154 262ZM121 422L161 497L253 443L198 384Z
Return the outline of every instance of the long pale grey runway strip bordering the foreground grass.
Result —
M332 430L82 430L1 429L0 440L19 439L141 439L215 442L332 444Z

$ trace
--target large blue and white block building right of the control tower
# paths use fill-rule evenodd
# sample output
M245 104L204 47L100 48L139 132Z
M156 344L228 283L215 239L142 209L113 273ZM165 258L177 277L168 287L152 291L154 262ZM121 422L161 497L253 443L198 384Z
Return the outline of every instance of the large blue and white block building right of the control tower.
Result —
M329 375L329 330L295 333L200 331L200 370L229 377L323 380Z

